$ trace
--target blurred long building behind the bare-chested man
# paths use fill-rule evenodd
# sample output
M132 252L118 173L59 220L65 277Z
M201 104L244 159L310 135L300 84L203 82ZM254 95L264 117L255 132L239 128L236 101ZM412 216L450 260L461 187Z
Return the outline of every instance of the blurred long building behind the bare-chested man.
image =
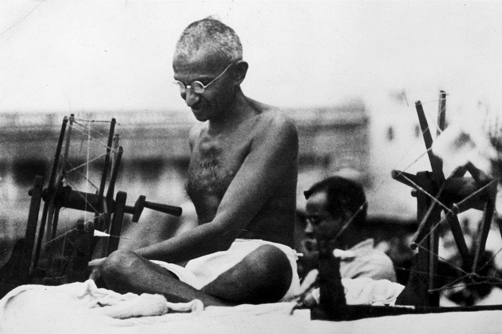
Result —
M390 178L390 171L403 154L403 147L409 151L410 142L421 141L420 131L416 116L397 117L399 112L394 115L392 109L396 107L375 110L357 99L326 108L285 109L296 120L299 132L299 210L304 208L304 190L322 178L339 174L363 183L370 219L392 224L414 220L414 199L407 187ZM116 191L126 191L131 205L139 195L151 201L185 205L187 135L195 122L188 110L87 112L76 116L79 120L72 127L68 152L71 165L104 154L109 126L104 121L114 117L124 147ZM48 178L63 117L56 113L0 114L0 236L4 240L24 234L28 190L35 175ZM96 159L89 170L83 167L68 176L70 185L94 192L85 177L99 184L102 161ZM145 210L144 216L149 214L153 213Z

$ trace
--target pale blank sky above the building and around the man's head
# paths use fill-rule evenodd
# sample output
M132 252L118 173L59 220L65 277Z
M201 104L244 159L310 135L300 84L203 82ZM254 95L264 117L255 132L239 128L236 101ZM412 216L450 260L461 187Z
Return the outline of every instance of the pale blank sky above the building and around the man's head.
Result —
M209 15L239 34L244 93L268 104L499 99L502 2L4 0L0 113L184 109L174 45Z

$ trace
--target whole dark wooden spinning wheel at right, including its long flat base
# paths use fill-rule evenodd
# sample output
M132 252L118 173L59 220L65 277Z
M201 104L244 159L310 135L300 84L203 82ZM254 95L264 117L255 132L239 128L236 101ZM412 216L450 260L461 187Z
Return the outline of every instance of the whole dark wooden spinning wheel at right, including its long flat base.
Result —
M445 107L446 94L441 91L437 135L445 128ZM440 276L438 275L439 232L437 227L445 222L450 227L458 253L462 259L461 268L456 269L462 272L461 279L467 281L466 285L476 284L487 278L496 281L496 277L486 277L480 273L483 267L486 266L486 264L480 262L481 256L485 252L495 210L497 179L488 177L476 169L472 163L457 168L452 175L445 178L443 162L431 150L433 138L420 101L416 102L416 110L432 171L409 174L404 171L393 170L391 173L392 178L413 188L411 195L417 198L419 227L413 237L411 247L418 248L418 253L415 255L416 262L410 269L410 278L405 290L398 297L398 304L407 306L346 305L344 303L344 289L339 279L340 260L335 260L331 256L332 254L325 257L319 255L320 305L311 307L311 319L355 320L399 314L499 310L502 308L502 305L439 307L439 291L449 286L441 287ZM471 176L465 176L467 172ZM472 250L469 249L465 242L457 217L459 213L469 209L483 211L483 218L476 239L473 242ZM502 235L500 225L499 229ZM500 283L500 280L497 283ZM338 285L337 288L336 285ZM298 305L298 307L302 307L302 300Z

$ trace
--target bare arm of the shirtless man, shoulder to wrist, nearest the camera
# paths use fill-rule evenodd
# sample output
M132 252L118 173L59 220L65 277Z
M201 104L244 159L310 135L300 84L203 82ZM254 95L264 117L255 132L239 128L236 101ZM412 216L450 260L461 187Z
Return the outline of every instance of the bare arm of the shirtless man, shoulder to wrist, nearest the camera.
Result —
M277 187L281 187L284 177L290 176L292 166L296 171L297 154L294 122L283 116L268 118L250 143L249 153L225 192L214 219L136 253L148 259L176 263L227 249Z

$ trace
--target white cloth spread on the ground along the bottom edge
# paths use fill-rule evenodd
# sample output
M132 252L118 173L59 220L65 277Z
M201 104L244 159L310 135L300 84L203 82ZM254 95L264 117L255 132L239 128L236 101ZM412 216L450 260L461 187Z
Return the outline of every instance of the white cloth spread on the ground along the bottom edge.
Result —
M406 314L355 321L310 320L310 310L290 311L291 303L207 307L202 312L113 319L85 308L79 300L85 283L63 286L22 286L0 300L0 333L9 334L137 334L137 333L371 333L401 334L441 331L442 334L499 333L500 311ZM91 298L92 299L92 298Z

